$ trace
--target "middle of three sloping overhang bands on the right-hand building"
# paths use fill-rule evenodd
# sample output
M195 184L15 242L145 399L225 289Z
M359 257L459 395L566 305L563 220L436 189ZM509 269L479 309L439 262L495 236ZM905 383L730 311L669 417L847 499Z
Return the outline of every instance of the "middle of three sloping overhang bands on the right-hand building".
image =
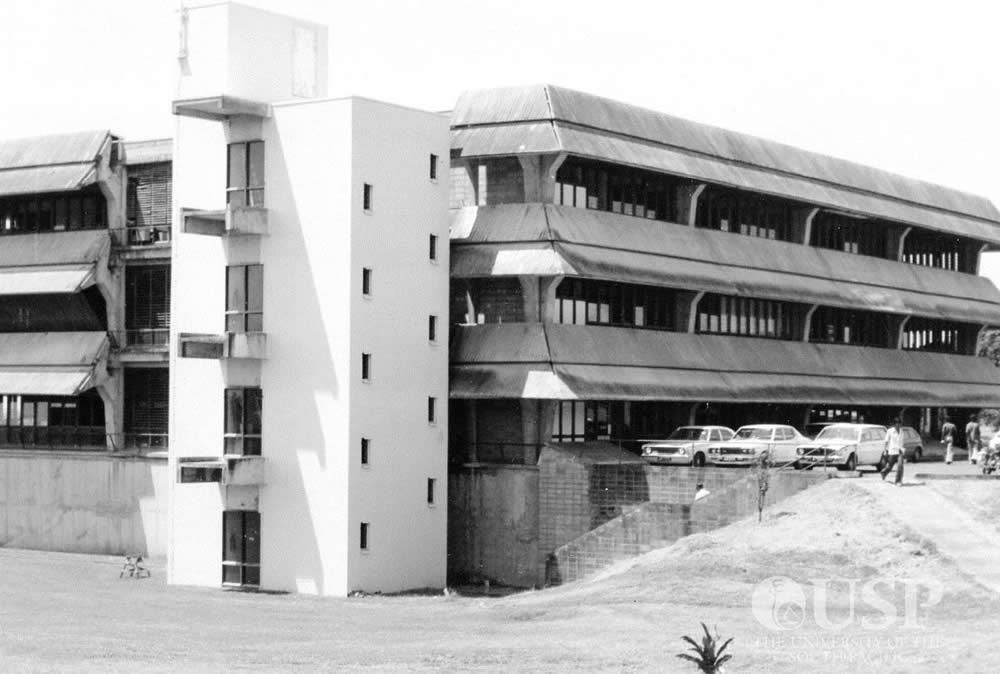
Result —
M972 274L568 206L479 207L452 217L461 223L452 228L456 278L563 273L1000 323L1000 290ZM547 245L545 256L515 255Z

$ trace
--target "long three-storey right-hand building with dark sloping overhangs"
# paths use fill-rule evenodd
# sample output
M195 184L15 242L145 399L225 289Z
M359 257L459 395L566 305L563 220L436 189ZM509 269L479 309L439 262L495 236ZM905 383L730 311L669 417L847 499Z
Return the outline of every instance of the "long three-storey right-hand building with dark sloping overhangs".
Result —
M668 479L570 485L559 457L621 464L612 445L694 423L937 433L1000 405L975 356L1000 324L987 200L554 86L466 93L451 123L456 577L541 582Z

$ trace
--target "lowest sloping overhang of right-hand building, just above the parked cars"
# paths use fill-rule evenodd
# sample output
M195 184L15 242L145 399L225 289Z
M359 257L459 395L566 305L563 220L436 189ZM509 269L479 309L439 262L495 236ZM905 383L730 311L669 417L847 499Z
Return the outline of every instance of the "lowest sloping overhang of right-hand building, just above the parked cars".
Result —
M982 358L749 337L481 325L458 330L451 361L452 398L1000 405ZM532 372L558 386L525 395Z

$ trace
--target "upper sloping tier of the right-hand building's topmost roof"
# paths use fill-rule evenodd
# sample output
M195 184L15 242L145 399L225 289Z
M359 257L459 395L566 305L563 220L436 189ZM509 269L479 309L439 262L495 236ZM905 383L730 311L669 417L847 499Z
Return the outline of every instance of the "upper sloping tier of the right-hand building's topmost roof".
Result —
M794 174L827 185L1000 222L1000 211L977 195L562 87L469 91L459 97L452 111L453 127L542 120L631 136L661 147L683 148L736 162L737 168L743 170L758 167L766 172ZM563 127L558 128L561 135ZM708 180L709 176L703 178Z

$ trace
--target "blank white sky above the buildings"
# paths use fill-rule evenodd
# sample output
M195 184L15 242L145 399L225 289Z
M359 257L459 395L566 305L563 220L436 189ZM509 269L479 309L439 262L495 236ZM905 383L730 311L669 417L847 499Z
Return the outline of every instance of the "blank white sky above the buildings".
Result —
M0 0L0 137L169 136L179 0ZM1000 205L1000 3L246 0L327 24L331 95L552 83ZM992 256L1000 258L1000 254ZM986 271L1000 279L1000 260Z

